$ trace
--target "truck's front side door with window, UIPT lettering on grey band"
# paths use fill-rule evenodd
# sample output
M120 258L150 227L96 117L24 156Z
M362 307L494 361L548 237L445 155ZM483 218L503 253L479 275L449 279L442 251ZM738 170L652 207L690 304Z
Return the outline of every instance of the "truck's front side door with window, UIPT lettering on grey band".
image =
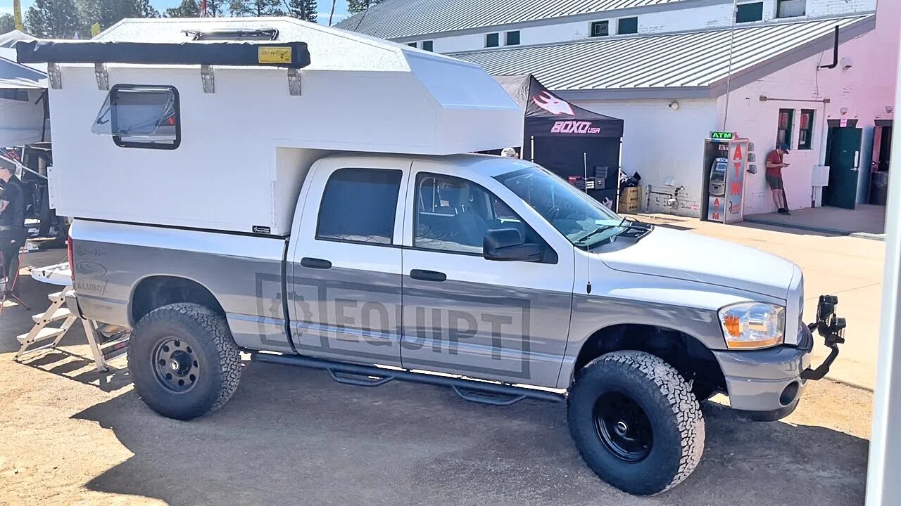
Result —
M555 386L569 334L572 245L496 180L452 172L417 160L408 180L403 366ZM496 229L520 230L548 255L487 260L483 240Z

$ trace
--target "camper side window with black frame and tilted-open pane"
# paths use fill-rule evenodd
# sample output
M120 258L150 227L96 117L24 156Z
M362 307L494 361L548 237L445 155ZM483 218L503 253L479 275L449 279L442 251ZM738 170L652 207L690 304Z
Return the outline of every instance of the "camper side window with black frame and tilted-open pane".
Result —
M178 92L173 86L116 85L91 132L122 148L176 149L181 143Z

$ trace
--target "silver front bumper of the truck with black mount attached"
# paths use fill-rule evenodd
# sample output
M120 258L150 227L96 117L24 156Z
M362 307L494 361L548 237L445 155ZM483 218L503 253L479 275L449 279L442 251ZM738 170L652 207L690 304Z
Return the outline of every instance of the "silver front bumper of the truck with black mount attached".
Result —
M752 411L759 420L779 420L795 411L808 380L826 375L844 342L844 319L835 316L834 296L821 296L816 322L802 329L796 347L780 346L757 351L714 351L725 377L729 402L733 409ZM832 348L829 357L811 368L813 330Z

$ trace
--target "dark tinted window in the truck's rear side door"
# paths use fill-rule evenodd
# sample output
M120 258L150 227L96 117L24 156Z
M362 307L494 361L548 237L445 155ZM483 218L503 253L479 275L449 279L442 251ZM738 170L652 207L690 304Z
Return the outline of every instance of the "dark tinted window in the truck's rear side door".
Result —
M316 239L391 244L401 171L341 168L325 184Z

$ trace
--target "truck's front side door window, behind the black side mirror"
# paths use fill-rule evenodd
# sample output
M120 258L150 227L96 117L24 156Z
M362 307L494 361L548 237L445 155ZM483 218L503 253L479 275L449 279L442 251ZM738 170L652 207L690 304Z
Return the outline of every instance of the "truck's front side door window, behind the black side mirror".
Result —
M460 177L420 174L414 207L415 248L482 254L488 230L516 229L543 243L516 213L485 188Z

